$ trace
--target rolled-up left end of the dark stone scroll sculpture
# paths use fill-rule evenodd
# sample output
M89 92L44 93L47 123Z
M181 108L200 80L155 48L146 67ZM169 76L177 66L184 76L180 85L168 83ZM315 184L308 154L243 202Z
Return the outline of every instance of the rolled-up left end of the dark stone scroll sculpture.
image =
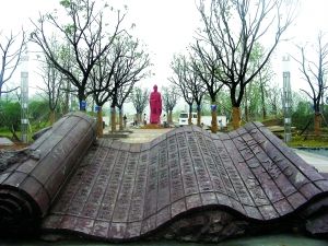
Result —
M39 226L94 140L94 120L69 114L28 147L28 156L0 173L0 235Z

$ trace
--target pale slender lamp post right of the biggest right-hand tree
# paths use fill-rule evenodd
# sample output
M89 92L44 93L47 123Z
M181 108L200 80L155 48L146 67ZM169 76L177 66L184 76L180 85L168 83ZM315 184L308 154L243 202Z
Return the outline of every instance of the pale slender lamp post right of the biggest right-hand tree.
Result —
M292 90L291 90L291 71L290 56L282 57L282 78L283 78L283 122L284 122L284 142L288 143L292 139Z

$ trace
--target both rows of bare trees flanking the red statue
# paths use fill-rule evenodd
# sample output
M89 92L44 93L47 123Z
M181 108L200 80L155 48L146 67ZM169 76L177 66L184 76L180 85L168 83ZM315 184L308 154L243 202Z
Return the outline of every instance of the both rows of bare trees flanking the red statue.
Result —
M0 98L15 87L5 86L15 71L26 42L35 43L42 90L47 96L50 122L62 103L69 109L70 96L85 110L87 98L96 105L98 130L103 134L102 108L110 103L112 131L116 130L116 108L122 121L122 107L132 102L138 120L148 104L149 92L138 86L151 74L151 60L140 39L131 35L124 22L126 12L95 0L61 0L61 10L39 14L32 20L34 31L28 35L10 34L0 44ZM270 59L295 17L293 1L284 0L199 0L201 26L185 54L173 57L172 86L163 87L163 107L167 121L177 98L183 97L189 113L196 106L200 125L203 102L211 105L212 132L218 131L218 113L231 115L233 127L245 121L279 114L281 92L273 83ZM62 17L62 14L65 17ZM133 28L133 25L131 26ZM311 90L316 133L323 120L327 75L327 44L318 36L318 61L308 59L306 47L298 46L300 65ZM2 36L1 36L2 37ZM263 37L269 39L262 45ZM268 38L270 37L270 38ZM19 47L14 49L13 44ZM7 90L4 90L4 87ZM178 93L177 93L178 92ZM191 115L191 114L190 114ZM191 119L189 118L191 124Z

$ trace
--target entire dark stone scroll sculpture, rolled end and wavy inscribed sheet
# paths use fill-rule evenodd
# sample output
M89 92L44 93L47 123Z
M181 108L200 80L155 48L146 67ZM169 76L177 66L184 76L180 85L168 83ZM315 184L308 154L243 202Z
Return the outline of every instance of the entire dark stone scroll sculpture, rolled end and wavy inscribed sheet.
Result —
M92 119L65 117L31 147L38 160L1 174L0 202L10 196L24 201L30 212L21 218L35 219L44 232L113 242L161 232L175 237L181 227L218 221L251 225L313 218L327 206L328 181L260 124L226 134L184 127L143 144L101 139L90 147L94 140ZM0 203L2 226L15 223L13 208ZM297 223L327 233L323 220Z

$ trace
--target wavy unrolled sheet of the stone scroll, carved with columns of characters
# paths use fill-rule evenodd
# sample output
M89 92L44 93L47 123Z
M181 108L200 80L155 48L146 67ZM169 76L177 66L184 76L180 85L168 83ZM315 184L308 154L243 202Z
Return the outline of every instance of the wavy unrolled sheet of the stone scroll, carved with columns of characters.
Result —
M328 181L262 125L219 136L185 127L144 144L99 140L43 229L128 241L199 209L259 222L284 218L327 190Z

